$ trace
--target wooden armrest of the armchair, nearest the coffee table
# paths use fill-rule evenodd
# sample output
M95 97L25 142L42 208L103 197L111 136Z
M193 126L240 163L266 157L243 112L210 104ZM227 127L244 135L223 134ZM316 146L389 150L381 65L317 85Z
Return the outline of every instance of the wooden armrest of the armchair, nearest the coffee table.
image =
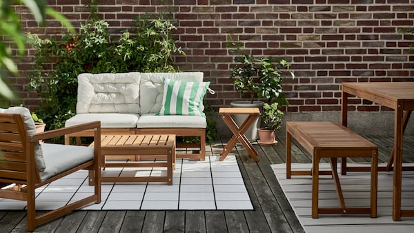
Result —
M44 139L51 139L57 136L64 136L65 134L71 134L74 132L81 132L83 130L100 129L101 121L92 121L89 123L83 123L79 125L68 126L65 128L59 128L57 130L48 130L46 132L39 132L36 134L28 135L28 142L35 142Z

